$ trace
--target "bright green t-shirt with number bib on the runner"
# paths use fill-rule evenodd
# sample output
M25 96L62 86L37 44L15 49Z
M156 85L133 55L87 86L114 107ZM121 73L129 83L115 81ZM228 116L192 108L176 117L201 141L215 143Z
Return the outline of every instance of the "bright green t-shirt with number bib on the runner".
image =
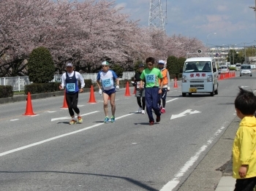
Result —
M140 75L140 79L146 81L146 87L159 87L158 79L162 78L162 73L159 69L144 69Z

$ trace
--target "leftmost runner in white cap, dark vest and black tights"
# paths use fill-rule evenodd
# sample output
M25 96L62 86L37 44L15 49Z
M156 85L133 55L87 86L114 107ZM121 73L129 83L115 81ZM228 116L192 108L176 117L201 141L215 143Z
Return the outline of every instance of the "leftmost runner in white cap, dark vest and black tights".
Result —
M83 77L78 71L73 70L72 63L67 63L67 72L62 74L61 77L61 85L59 85L59 89L66 89L66 101L67 106L69 108L69 114L71 116L70 125L74 125L77 123L75 120L75 113L78 114L78 122L82 123L83 119L80 116L80 110L78 109L78 92L83 92L83 87L85 85ZM81 87L78 89L78 80L80 80ZM74 111L75 113L74 113Z

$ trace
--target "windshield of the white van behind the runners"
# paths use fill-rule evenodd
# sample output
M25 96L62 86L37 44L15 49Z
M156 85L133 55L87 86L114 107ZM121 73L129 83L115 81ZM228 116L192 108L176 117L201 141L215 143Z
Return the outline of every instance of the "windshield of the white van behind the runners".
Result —
M186 62L184 72L211 72L211 62Z

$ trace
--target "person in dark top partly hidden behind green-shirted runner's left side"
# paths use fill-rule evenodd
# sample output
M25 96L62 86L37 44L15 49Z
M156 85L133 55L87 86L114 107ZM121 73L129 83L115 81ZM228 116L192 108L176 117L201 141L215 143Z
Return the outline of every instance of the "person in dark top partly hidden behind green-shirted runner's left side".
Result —
M139 105L138 113L145 114L145 107L146 107L146 101L145 101L145 85L142 89L140 89L140 75L144 69L143 63L139 64L139 71L135 73L135 82L132 84L136 87L136 94L135 97L137 97L137 103ZM142 104L141 104L142 102Z

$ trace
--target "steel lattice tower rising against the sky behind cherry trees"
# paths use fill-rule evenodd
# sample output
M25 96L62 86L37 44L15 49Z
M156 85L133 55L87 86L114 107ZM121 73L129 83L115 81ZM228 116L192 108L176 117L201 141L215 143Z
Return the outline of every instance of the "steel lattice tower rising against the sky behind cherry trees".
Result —
M167 4L167 0L166 0L166 4ZM167 14L167 9L166 9L166 14ZM148 26L161 28L162 31L165 33L165 20L162 13L161 0L150 0Z

